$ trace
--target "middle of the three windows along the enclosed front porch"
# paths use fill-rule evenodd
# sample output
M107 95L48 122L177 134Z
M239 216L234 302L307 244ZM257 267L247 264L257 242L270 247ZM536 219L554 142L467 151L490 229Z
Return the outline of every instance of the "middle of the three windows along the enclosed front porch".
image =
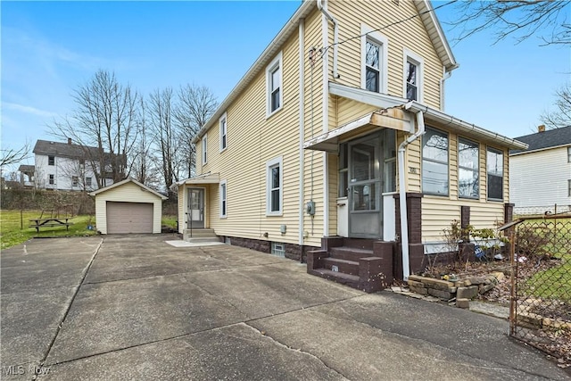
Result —
M466 139L458 142L458 195L465 198L477 198L480 195L478 145Z

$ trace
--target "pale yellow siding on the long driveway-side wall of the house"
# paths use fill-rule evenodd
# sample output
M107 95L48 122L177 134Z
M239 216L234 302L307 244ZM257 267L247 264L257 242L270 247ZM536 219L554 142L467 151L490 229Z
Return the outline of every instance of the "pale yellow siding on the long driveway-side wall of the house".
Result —
M313 34L313 45L320 41L320 18L314 12L310 18L319 21L319 28L306 21L306 41ZM318 38L315 39L315 38ZM310 44L311 42L308 42ZM207 188L208 226L219 236L241 236L251 239L269 240L290 244L299 243L299 43L295 33L281 49L282 53L282 109L266 118L266 71L265 68L250 82L227 112L228 148L219 152L219 124L215 123L208 131L208 164L202 171L219 173L220 180L227 182L227 218L219 217L219 184ZM321 93L321 65L314 67L314 91ZM314 96L314 119L310 120L310 65L306 62L305 81L305 136L311 135L313 125L315 135L321 133L321 96ZM310 162L310 152L305 152L306 164ZM322 154L314 153L314 197L323 200ZM282 159L282 215L266 215L267 168L272 159ZM310 195L310 166L306 165L303 174L306 185L304 202ZM323 215L323 205L318 213ZM319 216L316 216L316 220ZM310 219L305 219L306 223ZM287 230L280 233L281 225ZM315 224L313 235L304 244L319 246L323 236L322 224ZM268 233L268 237L264 237Z

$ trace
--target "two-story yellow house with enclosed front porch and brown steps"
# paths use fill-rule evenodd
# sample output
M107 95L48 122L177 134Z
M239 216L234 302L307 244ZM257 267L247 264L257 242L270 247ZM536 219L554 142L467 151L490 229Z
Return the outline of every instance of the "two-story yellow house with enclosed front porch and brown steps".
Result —
M509 219L525 145L443 112L457 67L428 1L303 2L194 138L180 232L372 290L442 250L452 219Z

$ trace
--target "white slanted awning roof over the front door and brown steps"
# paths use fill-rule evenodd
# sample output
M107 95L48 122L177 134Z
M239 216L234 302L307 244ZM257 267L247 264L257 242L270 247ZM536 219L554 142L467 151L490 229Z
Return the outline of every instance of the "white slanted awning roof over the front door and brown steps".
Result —
M404 112L400 107L381 109L314 137L303 143L303 148L336 153L339 143L343 140L359 137L379 128L393 128L412 133L414 121L410 120L408 112Z

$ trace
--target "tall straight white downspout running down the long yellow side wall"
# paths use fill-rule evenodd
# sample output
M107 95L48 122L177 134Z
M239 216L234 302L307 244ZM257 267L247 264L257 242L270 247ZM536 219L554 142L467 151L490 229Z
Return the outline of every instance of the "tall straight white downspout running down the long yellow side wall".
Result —
M299 126L299 134L300 134L300 192L299 192L299 200L300 200L300 210L299 210L299 234L298 234L298 243L300 244L301 254L300 254L300 262L303 261L303 218L304 218L304 208L303 208L303 184L304 184L304 173L305 173L305 151L303 150L303 141L305 139L305 130L303 125L305 123L305 61L304 61L304 48L305 48L305 19L300 20L299 24L299 76L300 76L300 90L299 90L299 112L300 112L300 126Z

